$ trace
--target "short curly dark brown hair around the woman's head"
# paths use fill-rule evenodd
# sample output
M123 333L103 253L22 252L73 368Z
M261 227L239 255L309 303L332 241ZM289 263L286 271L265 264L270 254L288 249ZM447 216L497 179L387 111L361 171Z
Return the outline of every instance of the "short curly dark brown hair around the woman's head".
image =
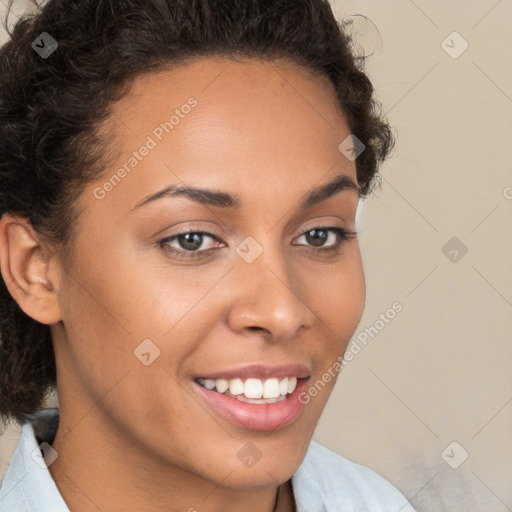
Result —
M47 58L32 47L43 32L58 42ZM0 49L0 215L29 219L63 251L74 201L105 170L98 127L113 102L138 76L193 57L285 57L327 77L366 147L356 161L361 196L394 144L364 58L327 0L48 0L9 35ZM22 423L55 386L49 326L0 279L0 417Z

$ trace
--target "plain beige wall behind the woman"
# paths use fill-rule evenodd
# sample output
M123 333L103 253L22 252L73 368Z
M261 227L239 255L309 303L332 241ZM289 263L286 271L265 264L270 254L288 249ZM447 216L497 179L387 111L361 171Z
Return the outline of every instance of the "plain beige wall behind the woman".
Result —
M510 511L512 3L333 5L380 32L367 70L397 146L360 216L367 304L354 339L374 329L315 439L419 512ZM374 36L359 41L369 49ZM396 301L403 310L381 327ZM16 441L15 430L0 438L0 476Z

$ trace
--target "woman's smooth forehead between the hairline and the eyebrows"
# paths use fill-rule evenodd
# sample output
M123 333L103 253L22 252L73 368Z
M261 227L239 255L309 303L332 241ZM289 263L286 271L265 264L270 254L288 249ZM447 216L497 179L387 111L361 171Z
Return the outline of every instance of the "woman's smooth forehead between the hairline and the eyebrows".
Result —
M329 171L355 181L338 149L350 131L334 87L288 60L199 58L143 75L105 129L115 158L103 179L124 165L129 176L109 198L126 207L180 181L241 195L293 188L290 180L313 187ZM148 140L151 150L126 167Z

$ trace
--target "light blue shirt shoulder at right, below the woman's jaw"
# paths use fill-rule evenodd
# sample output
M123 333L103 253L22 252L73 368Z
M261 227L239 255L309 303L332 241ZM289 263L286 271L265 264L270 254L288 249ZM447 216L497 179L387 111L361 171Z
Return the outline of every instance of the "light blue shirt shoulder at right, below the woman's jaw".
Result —
M298 508L308 511L414 512L407 498L378 473L315 441L292 486Z

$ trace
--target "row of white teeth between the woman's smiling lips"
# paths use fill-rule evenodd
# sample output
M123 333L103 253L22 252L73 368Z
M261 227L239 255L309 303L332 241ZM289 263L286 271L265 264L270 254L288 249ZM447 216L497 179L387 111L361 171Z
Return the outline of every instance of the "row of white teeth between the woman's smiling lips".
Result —
M199 384L207 389L215 389L218 393L225 393L228 389L234 395L243 395L254 403L268 400L267 403L280 401L281 397L293 393L297 386L297 377L285 377L284 379L271 378L265 381L261 379L198 379Z

